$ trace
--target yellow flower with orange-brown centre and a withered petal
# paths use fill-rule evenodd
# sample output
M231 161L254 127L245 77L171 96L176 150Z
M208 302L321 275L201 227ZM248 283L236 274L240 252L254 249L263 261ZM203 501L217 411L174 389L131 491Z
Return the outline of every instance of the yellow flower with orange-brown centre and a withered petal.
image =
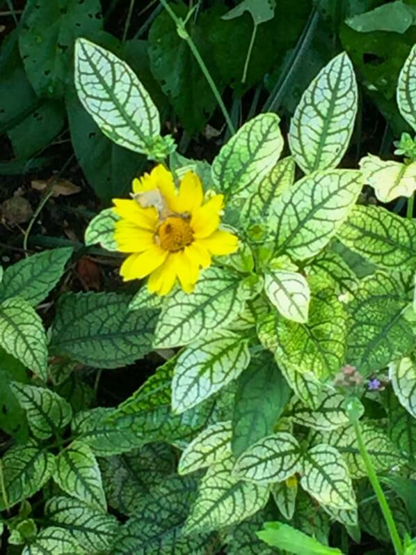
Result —
M223 195L204 203L198 175L187 172L176 189L172 174L162 165L133 182L132 200L113 198L116 214L114 239L118 250L130 253L120 268L125 281L150 276L150 292L167 295L179 279L191 292L200 268L211 256L237 250L237 237L221 230Z

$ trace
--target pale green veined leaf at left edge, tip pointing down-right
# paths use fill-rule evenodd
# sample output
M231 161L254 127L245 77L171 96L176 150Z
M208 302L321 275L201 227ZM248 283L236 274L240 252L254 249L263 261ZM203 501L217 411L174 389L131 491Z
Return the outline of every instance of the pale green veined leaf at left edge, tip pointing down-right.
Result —
M0 304L0 345L9 354L47 379L47 337L42 320L24 299Z

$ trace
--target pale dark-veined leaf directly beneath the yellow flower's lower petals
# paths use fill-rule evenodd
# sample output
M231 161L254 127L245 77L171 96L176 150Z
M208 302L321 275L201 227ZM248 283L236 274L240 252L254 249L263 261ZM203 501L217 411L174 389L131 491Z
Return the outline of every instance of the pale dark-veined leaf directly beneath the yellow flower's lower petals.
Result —
M188 345L226 327L243 311L240 280L225 269L207 269L190 295L176 290L166 299L155 331L154 347Z

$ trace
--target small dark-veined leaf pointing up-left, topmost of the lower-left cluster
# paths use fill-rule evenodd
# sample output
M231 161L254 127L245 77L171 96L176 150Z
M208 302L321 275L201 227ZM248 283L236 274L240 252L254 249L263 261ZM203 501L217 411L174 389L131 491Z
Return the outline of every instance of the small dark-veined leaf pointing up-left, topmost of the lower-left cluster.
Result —
M11 388L19 405L26 411L29 427L38 439L47 439L70 423L71 405L58 393L45 387L14 382Z

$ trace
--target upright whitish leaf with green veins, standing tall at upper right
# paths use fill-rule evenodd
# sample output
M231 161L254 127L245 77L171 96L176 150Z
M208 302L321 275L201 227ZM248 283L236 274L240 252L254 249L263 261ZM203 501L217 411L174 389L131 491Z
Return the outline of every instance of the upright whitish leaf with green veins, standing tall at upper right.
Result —
M353 65L342 52L307 87L290 123L290 150L305 173L339 164L348 147L356 113Z

